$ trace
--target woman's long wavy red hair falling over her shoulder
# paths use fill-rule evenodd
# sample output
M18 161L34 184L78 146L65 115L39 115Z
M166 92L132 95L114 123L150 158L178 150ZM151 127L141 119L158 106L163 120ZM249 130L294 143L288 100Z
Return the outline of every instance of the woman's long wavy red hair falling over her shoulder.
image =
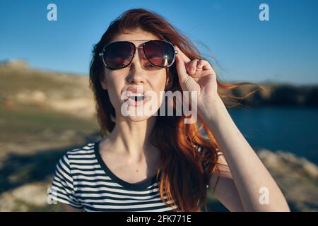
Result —
M156 35L161 40L176 44L189 59L205 59L199 50L162 16L143 8L134 8L122 13L110 23L100 41L93 46L93 59L90 63L90 88L93 90L102 136L107 136L115 126L115 111L107 90L103 90L101 81L105 76L105 66L99 53L105 44L121 33L141 29ZM207 60L207 59L206 59ZM212 65L212 64L211 64ZM167 76L173 79L172 92L182 88L179 85L177 69L173 64L167 69ZM217 78L218 92L237 88L243 84L221 83ZM167 90L166 90L167 91ZM223 100L228 95L219 93ZM175 100L173 107L175 108ZM204 121L184 124L185 116L160 116L157 114L155 127L151 133L151 143L160 150L160 163L157 172L160 198L167 206L177 206L179 211L201 211L206 207L207 187L211 174L218 170L218 152L220 147ZM207 136L202 134L206 132ZM214 188L215 189L215 186Z

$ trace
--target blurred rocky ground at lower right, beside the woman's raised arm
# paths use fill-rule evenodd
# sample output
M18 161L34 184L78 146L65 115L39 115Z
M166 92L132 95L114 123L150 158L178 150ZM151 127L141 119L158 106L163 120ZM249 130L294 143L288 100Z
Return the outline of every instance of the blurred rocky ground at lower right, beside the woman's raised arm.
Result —
M259 158L281 188L291 210L318 211L318 167L303 157L262 149Z

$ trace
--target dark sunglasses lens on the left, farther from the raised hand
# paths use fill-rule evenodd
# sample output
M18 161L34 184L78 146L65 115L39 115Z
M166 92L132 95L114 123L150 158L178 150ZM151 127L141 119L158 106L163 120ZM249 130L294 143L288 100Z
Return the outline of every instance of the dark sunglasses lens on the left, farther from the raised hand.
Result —
M110 69L122 69L129 65L134 56L134 44L113 42L104 49L104 61Z

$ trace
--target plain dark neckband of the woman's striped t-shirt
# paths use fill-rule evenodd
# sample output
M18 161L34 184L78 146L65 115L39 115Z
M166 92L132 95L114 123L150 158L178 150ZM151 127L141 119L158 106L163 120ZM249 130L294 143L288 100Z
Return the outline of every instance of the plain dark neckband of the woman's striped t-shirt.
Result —
M148 188L148 186L151 186L153 184L155 184L156 182L156 175L153 176L151 179L146 180L145 182L138 182L138 183L129 183L129 182L125 182L123 179L120 179L119 177L117 177L111 170L110 168L107 167L107 165L105 164L104 160L102 160L102 157L100 155L100 141L96 141L94 143L94 153L95 153L95 157L98 160L98 163L100 164L100 166L102 167L102 169L104 170L104 172L114 181L117 182L117 184L122 185L125 189L129 189L129 190L145 190Z

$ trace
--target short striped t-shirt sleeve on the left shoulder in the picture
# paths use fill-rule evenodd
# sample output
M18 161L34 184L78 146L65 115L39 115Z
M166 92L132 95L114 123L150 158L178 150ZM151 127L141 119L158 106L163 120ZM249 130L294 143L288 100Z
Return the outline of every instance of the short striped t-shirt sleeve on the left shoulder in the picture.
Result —
M67 153L57 162L54 178L48 193L52 200L69 204L75 208L83 208L74 194L73 177Z

